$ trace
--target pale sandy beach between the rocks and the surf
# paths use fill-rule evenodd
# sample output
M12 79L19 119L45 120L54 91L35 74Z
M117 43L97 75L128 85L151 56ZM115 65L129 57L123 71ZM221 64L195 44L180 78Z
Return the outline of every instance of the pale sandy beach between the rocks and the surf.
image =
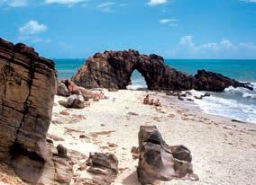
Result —
M141 125L156 125L169 145L182 144L190 149L200 179L162 184L256 184L256 125L206 115L191 102L161 93L149 93L151 98L160 99L161 108L144 105L145 94L105 92L107 100L92 101L83 110L59 106L58 101L65 98L56 96L49 134L64 139L54 141L55 145L87 156L89 152L114 153L120 169L114 184L136 185L138 160L133 160L131 148L138 145ZM74 170L84 175L76 166Z

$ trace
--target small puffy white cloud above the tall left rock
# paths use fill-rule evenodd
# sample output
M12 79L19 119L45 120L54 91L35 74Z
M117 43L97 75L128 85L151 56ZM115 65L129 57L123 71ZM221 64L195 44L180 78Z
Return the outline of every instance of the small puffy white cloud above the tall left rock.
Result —
M37 34L47 30L47 26L36 21L29 21L20 27L19 31L25 35Z

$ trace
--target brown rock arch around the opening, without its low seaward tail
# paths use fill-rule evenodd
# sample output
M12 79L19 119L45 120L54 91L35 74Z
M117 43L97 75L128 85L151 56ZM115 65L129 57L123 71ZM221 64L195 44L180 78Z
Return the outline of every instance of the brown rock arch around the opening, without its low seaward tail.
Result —
M148 89L191 89L193 78L166 66L157 55L140 55L138 51L105 51L87 58L72 80L86 88L126 89L134 70L144 77Z

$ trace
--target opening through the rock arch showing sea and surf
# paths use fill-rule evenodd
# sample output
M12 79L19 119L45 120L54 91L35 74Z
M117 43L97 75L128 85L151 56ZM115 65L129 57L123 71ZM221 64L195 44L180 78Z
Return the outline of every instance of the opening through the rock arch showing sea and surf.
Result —
M134 69L130 77L130 83L126 86L126 89L129 90L139 90L139 89L148 89L148 85L145 81L145 78L142 74Z

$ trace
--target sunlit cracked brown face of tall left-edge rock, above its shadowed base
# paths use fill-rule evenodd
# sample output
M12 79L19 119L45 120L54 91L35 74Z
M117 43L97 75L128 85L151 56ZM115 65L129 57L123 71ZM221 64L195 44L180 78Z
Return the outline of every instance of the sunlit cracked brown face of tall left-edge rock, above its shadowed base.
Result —
M33 48L0 40L0 69L0 159L17 146L40 154L51 120L54 63Z

